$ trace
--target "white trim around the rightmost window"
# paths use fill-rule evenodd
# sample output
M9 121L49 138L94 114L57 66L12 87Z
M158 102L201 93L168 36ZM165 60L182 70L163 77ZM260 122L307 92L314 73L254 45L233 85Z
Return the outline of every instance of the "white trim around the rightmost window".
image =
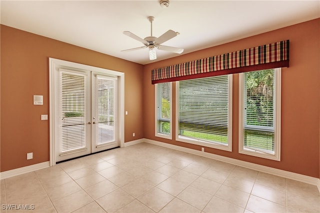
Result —
M244 148L244 74L239 73L239 153L280 161L281 142L281 68L274 69L275 104L274 104L274 154Z

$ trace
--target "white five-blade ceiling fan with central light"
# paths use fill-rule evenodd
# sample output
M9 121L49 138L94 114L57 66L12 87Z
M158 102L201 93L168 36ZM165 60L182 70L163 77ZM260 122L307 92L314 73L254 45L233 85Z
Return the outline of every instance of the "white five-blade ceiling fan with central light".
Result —
M149 49L149 59L150 60L155 60L156 59L156 54L155 54L155 48L159 50L164 50L164 51L169 51L169 52L174 52L174 53L182 53L183 49L178 48L178 47L173 47L173 46L164 46L160 45L161 43L175 37L178 35L178 32L174 32L173 30L169 29L168 31L164 32L160 37L154 37L152 36L152 21L154 20L153 16L148 16L147 19L151 23L151 35L148 37L145 37L144 39L140 38L139 36L133 34L132 32L129 31L123 31L123 34L138 40L143 43L144 46L132 48L132 49L125 49L122 51L131 51L131 50L137 50L137 49L143 49L143 48L148 48Z

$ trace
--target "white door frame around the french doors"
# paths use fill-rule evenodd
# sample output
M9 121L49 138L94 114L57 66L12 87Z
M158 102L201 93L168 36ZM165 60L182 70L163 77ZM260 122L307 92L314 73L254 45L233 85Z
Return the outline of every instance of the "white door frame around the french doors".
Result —
M49 148L50 148L50 166L55 165L55 149L54 149L54 91L53 80L54 71L58 68L71 68L73 70L90 70L101 74L115 75L118 77L118 138L120 141L120 147L124 147L124 73L114 70L89 66L85 64L74 63L70 61L64 61L55 58L49 58Z

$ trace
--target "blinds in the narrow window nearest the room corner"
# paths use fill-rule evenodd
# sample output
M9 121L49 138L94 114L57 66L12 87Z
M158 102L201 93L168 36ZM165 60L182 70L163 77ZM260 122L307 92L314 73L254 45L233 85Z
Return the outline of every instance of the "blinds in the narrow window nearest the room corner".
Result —
M157 132L170 134L170 82L157 84Z

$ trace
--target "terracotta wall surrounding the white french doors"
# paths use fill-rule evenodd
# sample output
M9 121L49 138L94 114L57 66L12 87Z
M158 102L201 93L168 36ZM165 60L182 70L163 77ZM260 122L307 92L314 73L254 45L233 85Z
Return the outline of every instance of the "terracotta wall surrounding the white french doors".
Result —
M4 25L0 30L1 172L49 161L49 121L40 120L49 114L49 57L124 72L124 140L143 138L142 65ZM33 95L43 95L43 105L33 105Z

